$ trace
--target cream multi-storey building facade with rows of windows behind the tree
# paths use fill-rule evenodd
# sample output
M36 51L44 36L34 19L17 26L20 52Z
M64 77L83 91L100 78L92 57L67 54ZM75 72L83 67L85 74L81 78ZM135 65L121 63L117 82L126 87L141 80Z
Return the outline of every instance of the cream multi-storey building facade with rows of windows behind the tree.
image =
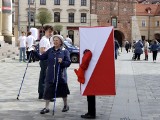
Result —
M60 34L69 35L75 45L79 45L79 27L96 25L95 15L90 14L90 0L30 0L30 26L41 29L41 24L35 19L41 10L48 10L53 15L49 25L62 25ZM28 0L19 1L19 29L27 31L28 27ZM94 18L91 20L90 18Z

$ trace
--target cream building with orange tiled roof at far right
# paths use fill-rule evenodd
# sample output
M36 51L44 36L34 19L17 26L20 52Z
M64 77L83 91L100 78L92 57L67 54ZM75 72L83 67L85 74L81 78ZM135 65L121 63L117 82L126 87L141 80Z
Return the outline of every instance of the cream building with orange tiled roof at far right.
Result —
M160 34L160 6L158 4L136 4L136 21L142 40L153 40Z

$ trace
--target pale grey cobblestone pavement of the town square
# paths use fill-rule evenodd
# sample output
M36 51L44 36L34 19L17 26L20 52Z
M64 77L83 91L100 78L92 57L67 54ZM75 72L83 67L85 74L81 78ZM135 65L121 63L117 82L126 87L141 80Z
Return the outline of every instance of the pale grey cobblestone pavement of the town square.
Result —
M149 57L149 61L131 61L132 53L123 52L119 56L116 61L117 95L96 97L97 120L160 120L160 56L157 63L152 62L151 55ZM0 120L81 120L80 115L87 111L87 100L80 95L73 71L78 64L68 69L70 110L62 113L62 99L57 99L55 116L52 112L39 114L44 101L37 99L38 62L29 64L20 100L16 100L25 68L26 63L15 60L0 62Z

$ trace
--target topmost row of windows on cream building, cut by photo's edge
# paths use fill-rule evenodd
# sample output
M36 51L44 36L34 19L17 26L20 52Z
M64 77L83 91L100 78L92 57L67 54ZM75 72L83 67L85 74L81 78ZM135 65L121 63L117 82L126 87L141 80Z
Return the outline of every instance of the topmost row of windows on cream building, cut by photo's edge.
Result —
M46 5L47 0L40 0L40 5ZM77 0L78 1L78 0ZM35 0L28 0L28 4L34 4ZM61 1L60 0L53 0L54 5L60 5ZM69 0L68 1L69 5L75 5L75 0ZM87 6L87 0L81 0L81 6Z

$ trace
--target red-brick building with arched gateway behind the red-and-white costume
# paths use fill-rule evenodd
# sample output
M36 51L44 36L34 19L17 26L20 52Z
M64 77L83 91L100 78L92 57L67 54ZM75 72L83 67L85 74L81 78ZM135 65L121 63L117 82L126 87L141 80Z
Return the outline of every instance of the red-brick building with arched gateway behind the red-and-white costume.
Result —
M135 0L91 0L91 13L97 15L99 26L114 26L115 38L121 45L131 38L131 16L135 14Z

